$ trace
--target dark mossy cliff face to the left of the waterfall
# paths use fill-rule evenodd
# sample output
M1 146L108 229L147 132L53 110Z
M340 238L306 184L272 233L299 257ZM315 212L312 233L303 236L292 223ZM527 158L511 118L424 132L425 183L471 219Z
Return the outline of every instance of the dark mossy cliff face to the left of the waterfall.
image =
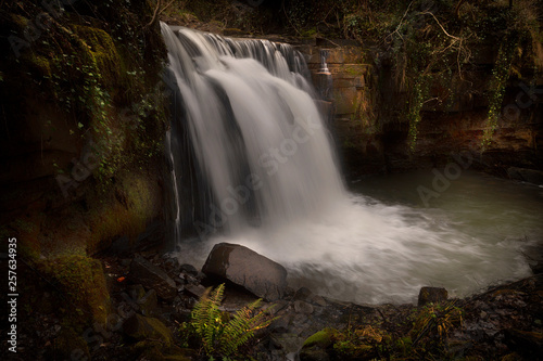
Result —
M153 13L147 1L0 10L0 234L16 241L21 305L54 310L62 341L105 322L109 293L92 255L115 241L163 241L146 233L163 219L167 124Z

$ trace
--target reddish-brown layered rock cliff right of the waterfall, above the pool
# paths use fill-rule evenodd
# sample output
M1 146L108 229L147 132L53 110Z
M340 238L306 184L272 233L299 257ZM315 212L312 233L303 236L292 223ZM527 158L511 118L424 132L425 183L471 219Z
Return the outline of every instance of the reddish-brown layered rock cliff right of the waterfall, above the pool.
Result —
M355 42L315 41L300 46L314 77L326 50L332 74L333 130L351 175L406 171L444 166L453 154L468 152L473 167L507 176L510 167L543 169L543 79L510 78L500 105L495 130L484 141L489 124L492 69L498 49L489 46L473 60L469 85L454 76L444 87L435 80L420 109L416 142L409 139L405 104L393 69L376 65L372 51ZM541 56L541 55L540 55ZM526 72L531 69L520 69ZM445 95L443 96L443 93ZM442 99L438 104L435 100Z

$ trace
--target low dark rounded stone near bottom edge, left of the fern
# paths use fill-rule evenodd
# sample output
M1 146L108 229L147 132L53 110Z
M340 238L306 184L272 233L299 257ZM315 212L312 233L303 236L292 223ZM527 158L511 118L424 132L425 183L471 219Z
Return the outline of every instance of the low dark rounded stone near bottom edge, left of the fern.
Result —
M155 318L135 313L123 324L126 335L137 340L159 339L165 345L172 345L172 332L162 321Z

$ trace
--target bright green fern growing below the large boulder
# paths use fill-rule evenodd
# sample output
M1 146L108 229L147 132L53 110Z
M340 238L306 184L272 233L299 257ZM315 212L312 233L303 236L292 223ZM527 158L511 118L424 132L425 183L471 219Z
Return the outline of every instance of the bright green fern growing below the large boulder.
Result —
M257 310L257 299L238 310L231 318L220 311L225 284L210 288L200 297L191 314L190 326L198 335L205 354L230 357L247 344L254 333L267 327L275 319L268 319L264 310Z

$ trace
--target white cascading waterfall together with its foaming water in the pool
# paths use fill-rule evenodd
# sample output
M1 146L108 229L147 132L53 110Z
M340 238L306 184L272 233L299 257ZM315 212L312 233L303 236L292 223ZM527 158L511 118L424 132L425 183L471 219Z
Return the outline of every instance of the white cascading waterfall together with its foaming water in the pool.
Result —
M243 244L286 266L293 286L357 302L413 301L424 285L463 296L530 274L518 242L489 243L435 209L349 194L303 59L287 46L162 30L185 108L174 121L187 124L209 193L197 242L180 240L177 209L185 261L201 266L218 242ZM174 164L179 152L171 147ZM173 177L181 204L186 175Z

